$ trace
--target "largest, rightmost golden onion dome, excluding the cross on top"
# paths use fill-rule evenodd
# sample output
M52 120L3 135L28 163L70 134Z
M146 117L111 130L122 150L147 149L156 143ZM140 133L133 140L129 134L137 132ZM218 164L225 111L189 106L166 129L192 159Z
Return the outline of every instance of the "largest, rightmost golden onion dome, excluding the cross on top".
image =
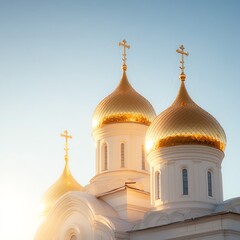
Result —
M149 153L160 147L206 145L224 151L226 135L218 121L188 95L184 81L173 104L150 125L146 134Z

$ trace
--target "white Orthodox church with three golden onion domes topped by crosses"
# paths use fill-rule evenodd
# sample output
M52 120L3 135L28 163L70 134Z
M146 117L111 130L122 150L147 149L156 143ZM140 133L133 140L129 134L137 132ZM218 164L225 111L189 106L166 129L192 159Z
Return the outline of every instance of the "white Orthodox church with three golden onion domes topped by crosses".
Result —
M237 240L240 197L223 201L221 165L226 135L220 123L190 97L183 45L180 86L159 115L122 77L95 108L92 135L96 172L81 186L65 168L43 195L35 240Z

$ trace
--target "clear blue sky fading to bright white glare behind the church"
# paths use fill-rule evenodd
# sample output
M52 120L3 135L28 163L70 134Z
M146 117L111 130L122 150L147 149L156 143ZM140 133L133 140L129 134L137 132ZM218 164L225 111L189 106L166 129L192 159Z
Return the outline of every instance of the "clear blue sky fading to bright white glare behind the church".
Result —
M42 194L64 167L86 185L95 173L91 118L121 78L157 114L175 99L184 44L186 85L227 135L224 199L240 196L240 1L0 1L0 238L33 238Z

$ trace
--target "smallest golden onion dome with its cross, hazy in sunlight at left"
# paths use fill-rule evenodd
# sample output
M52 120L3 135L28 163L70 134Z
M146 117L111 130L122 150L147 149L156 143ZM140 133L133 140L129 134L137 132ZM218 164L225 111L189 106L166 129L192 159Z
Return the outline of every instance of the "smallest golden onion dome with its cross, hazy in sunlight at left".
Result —
M66 138L66 155L65 155L65 167L60 178L47 190L43 196L43 215L46 215L53 207L56 201L67 192L82 191L83 187L72 176L68 165L68 144L67 139L71 138L68 132L65 131L61 136Z

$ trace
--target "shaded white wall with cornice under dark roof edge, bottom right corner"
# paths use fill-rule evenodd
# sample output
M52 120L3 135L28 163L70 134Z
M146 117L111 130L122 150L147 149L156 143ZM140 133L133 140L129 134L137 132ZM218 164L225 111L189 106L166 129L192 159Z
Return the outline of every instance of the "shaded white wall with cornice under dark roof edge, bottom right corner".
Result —
M239 216L226 213L132 231L130 232L130 239L237 240L240 239L239 229Z

